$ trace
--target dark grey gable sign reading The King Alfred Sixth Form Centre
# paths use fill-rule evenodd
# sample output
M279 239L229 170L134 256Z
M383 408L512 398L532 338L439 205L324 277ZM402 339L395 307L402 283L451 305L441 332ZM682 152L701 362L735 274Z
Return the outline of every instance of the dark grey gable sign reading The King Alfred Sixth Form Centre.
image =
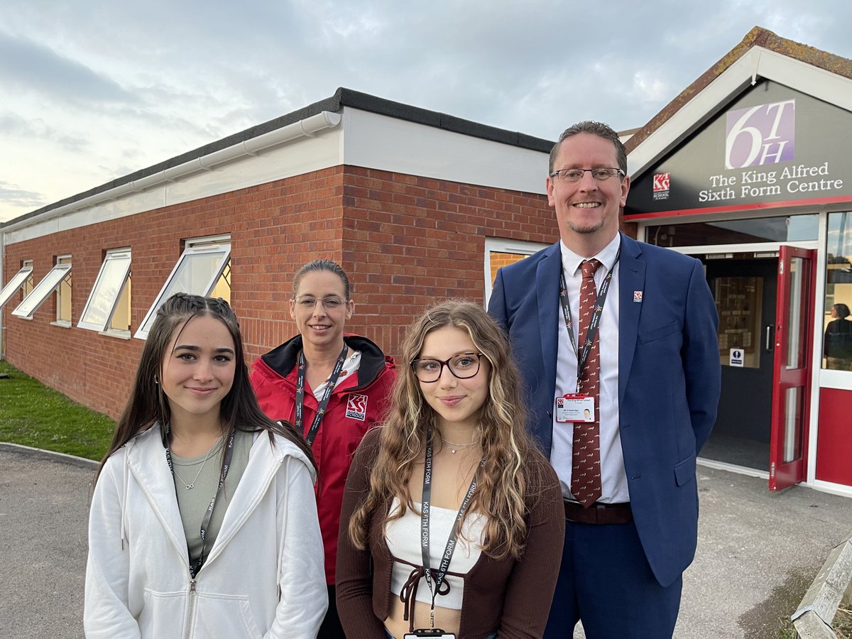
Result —
M852 161L844 162L838 149L852 124L849 113L779 84L768 86L761 91L762 104L748 105L746 96L739 101L745 105L720 114L655 170L640 176L627 215L824 201L849 193L844 174Z

